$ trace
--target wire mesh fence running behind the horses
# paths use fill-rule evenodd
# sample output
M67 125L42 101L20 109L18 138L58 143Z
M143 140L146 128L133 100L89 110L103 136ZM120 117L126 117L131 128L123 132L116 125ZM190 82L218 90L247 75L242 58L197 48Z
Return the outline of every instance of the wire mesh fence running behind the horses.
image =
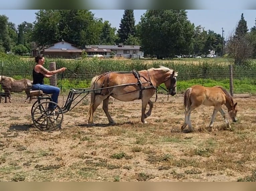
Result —
M186 88L200 84L206 87L213 86L223 86L225 89L233 94L256 94L256 72L250 69L240 69L226 67L222 69L208 69L200 68L197 70L191 70L189 68L178 69L177 77L177 93L182 94ZM61 88L63 94L67 95L71 88L81 89L89 88L91 80L94 76L100 75L101 73L91 73L82 71L65 71L63 74L57 74L57 87ZM3 76L11 77L14 80L28 79L32 81L32 71L31 72L20 72L13 70L5 70ZM44 78L45 84L50 85L50 80ZM4 96L4 80L1 81L1 95ZM20 87L13 86L11 97L13 103L23 103L26 98L26 93L23 91L21 93L15 92L16 89ZM159 89L160 93L165 93L162 89ZM3 98L3 97L2 97ZM7 99L8 101L8 99ZM3 103L4 100L1 100Z

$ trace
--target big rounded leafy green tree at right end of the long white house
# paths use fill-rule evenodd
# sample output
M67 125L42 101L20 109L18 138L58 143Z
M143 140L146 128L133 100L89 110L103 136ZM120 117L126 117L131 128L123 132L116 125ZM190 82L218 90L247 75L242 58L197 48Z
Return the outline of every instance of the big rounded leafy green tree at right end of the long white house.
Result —
M140 24L142 50L157 58L189 54L193 51L194 25L185 10L147 10Z

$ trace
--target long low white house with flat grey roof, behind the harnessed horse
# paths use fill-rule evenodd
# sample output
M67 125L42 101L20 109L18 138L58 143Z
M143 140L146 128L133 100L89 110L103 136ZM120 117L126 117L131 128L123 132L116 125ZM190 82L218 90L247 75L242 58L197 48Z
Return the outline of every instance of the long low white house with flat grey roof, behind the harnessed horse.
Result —
M140 46L130 45L88 45L85 47L88 55L101 54L106 57L111 55L125 56L126 58L143 58L144 53Z

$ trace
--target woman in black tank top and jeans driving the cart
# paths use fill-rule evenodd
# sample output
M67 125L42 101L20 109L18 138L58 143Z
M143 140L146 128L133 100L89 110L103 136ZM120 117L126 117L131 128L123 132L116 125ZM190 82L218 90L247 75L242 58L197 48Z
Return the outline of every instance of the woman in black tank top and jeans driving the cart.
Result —
M60 68L54 71L48 71L43 67L44 65L44 56L42 54L35 57L35 62L37 63L33 69L33 85L32 90L41 90L44 94L52 94L52 101L58 103L59 88L55 86L49 86L44 84L43 78L50 78L52 75L65 71L67 68ZM53 110L54 106L49 105L49 109Z

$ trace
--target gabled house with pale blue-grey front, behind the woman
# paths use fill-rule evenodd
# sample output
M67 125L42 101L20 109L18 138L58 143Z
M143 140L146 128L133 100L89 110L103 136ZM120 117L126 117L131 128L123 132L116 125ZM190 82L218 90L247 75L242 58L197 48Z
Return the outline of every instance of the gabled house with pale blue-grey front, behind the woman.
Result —
M49 57L77 58L82 56L82 52L82 49L64 41L63 39L47 48L44 48L44 56Z

